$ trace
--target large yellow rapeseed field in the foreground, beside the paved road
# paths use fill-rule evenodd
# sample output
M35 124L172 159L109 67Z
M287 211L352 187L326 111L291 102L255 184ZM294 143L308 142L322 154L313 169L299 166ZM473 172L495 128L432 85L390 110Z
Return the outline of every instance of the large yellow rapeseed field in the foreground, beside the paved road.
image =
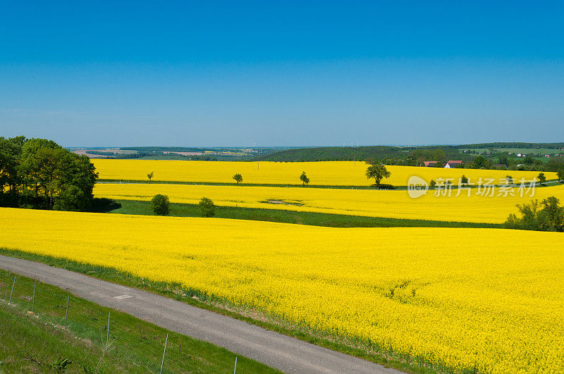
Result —
M457 372L562 371L562 238L0 208L2 247L180 282Z

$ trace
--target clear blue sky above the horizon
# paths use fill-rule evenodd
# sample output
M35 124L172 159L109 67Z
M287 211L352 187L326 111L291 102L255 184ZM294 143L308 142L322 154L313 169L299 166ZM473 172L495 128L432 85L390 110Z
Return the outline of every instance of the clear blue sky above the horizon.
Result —
M4 1L0 136L564 141L562 1Z

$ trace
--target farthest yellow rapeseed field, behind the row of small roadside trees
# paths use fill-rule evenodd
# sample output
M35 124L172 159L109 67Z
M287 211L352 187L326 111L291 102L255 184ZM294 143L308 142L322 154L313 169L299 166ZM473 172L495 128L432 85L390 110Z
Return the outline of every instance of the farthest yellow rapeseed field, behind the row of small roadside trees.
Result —
M233 175L243 175L243 183L267 185L300 185L300 174L307 173L311 185L367 186L374 180L364 176L367 164L361 161L326 162L230 162L230 161L173 161L173 160L108 160L92 159L99 176L109 180L147 180L147 173L154 172L153 180L170 182L235 183ZM387 166L391 177L383 180L396 186L407 185L412 175L424 180L454 178L455 184L462 174L477 182L479 177L498 181L511 175L515 180L525 177L531 180L538 172L506 170L472 170L445 168L416 168L412 166ZM556 179L556 173L545 173L548 180Z

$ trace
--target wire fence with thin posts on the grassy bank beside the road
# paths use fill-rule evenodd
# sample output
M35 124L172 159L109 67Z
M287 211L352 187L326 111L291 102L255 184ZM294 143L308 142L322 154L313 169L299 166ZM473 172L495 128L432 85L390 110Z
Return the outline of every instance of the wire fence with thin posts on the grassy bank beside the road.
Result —
M253 361L233 354L228 355L233 361L227 361L226 351L212 344L4 270L0 270L0 299L150 373L255 373L258 368Z

